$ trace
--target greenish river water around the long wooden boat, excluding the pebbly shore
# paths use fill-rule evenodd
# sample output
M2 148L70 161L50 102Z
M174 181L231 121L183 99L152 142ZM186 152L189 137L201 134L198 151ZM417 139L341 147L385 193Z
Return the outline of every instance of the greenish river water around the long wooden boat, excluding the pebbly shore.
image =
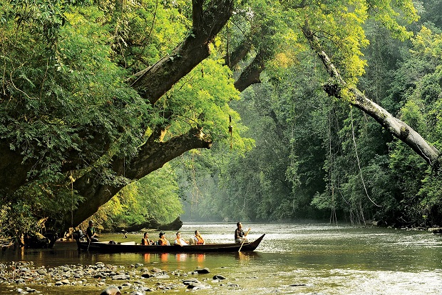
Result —
M207 267L210 274L197 278L206 280L212 288L198 290L198 294L442 294L442 236L427 231L327 224L243 223L243 226L252 228L250 239L266 234L253 253L97 254L78 253L75 243L56 243L53 249L3 251L0 263L34 261L36 267L50 267L101 261L120 266L139 263L149 269L167 271ZM198 229L208 242L229 242L235 228L235 224L227 223L184 224L180 231L188 238ZM157 236L158 231L150 232L151 239ZM168 231L166 236L173 240L174 233ZM141 234L130 234L128 239L122 235L101 236L102 241L108 239L139 242ZM215 274L225 276L225 283L211 281ZM42 294L97 295L103 289L34 288ZM17 294L16 289L0 284L2 295ZM185 292L188 291L165 291L166 294Z

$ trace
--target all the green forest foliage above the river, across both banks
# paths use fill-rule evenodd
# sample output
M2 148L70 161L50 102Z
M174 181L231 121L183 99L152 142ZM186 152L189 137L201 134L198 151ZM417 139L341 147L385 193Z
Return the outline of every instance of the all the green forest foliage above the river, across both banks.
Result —
M442 224L440 167L353 109L349 91L440 150L442 1L234 2L210 58L163 73L180 79L150 100L133 85L191 59L176 52L208 21L200 2L0 0L0 151L15 156L0 168L23 178L0 189L0 233L66 228L111 188L94 217L105 226L170 221L179 196L191 219ZM346 81L338 99L307 28ZM210 151L177 159L186 136Z

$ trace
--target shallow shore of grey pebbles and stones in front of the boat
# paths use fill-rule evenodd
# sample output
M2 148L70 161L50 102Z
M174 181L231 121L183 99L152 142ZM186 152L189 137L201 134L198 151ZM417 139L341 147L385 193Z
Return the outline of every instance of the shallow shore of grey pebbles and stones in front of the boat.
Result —
M176 293L186 289L217 287L228 291L240 288L222 274L211 275L207 268L163 271L157 268L148 269L143 264L115 266L102 262L48 268L34 267L32 262L24 261L0 264L0 289L9 287L9 294L45 294L48 288L56 289L57 294L63 294L63 290L76 288L91 290L88 294L98 295L108 286L117 286L121 294L130 295L142 295L150 291Z

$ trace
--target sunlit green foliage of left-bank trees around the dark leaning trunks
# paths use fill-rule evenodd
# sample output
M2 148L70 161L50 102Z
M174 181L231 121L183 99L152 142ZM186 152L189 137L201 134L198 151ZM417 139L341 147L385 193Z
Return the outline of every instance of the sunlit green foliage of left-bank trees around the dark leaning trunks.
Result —
M142 99L128 84L186 36L190 1L16 0L0 1L0 7L0 139L23 156L21 164L31 163L26 185L0 191L1 234L37 230L37 221L46 217L66 220L83 200L73 184L90 171L98 174L91 185L93 180L111 186L132 181L116 174L113 161L123 159L130 167L158 126L167 126L164 141L198 126L220 144L228 142L229 116L238 121L228 102L238 99L238 91L216 44L213 59L191 71L158 104ZM243 148L249 146L238 131L232 136ZM144 198L138 206L148 206L149 217L168 221L175 214L175 219L181 212L175 189L165 186L161 194L143 189L168 179L155 175L158 181L143 179L126 190L138 187ZM158 198L170 207L155 205ZM120 202L130 208L130 201ZM120 217L113 222L124 222ZM130 216L144 217L138 211Z

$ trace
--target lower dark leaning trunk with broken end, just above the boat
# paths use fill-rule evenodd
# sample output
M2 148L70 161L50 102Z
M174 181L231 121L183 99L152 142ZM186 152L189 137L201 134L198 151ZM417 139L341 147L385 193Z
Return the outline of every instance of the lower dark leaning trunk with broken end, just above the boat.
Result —
M168 161L182 155L191 149L210 149L212 140L203 134L201 129L190 129L186 134L173 137L168 141L148 141L143 145L135 159L125 163L124 159L114 159L113 171L118 176L125 176L130 180L141 179L150 172L160 169ZM68 224L78 226L81 222L96 213L97 209L106 204L115 194L122 189L115 184L103 184L103 178L98 171L76 179L73 189L85 198L85 204L79 204L78 209L72 215L66 216ZM72 220L71 220L72 219Z

